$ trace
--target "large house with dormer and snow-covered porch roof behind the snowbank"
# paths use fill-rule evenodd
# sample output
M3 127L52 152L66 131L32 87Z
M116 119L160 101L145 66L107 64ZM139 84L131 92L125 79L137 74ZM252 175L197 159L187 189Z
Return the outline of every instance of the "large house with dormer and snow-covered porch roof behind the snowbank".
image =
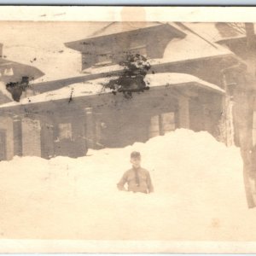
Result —
M113 22L66 46L81 52L83 75L33 84L40 94L0 107L15 120L8 159L77 157L88 148L124 147L176 128L218 136L225 94L221 70L239 63L229 49L182 23L158 22ZM122 72L119 61L127 51L151 64L144 79L150 89L131 99L103 90Z

